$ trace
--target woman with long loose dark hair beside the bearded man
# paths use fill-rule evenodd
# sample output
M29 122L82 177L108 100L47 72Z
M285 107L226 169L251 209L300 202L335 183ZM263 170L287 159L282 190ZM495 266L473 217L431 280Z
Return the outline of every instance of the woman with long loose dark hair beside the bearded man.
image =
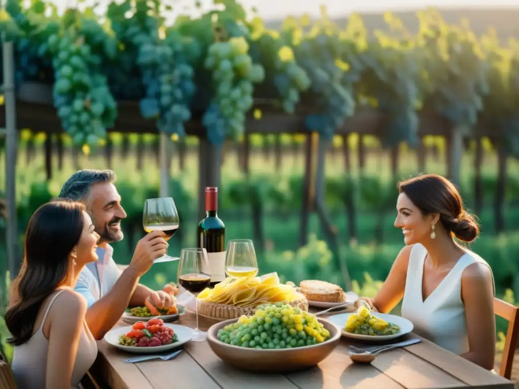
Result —
M86 263L97 260L98 240L80 203L50 202L29 220L5 317L20 389L76 387L92 366L98 350L85 322L87 302L73 288Z

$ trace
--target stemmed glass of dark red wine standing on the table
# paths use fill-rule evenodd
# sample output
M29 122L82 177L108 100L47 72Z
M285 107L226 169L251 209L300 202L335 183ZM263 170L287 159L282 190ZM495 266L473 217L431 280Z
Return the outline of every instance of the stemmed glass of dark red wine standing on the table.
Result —
M201 342L207 339L207 332L198 329L198 294L209 286L211 268L205 248L184 248L180 254L178 270L179 284L195 296L196 328L191 340Z

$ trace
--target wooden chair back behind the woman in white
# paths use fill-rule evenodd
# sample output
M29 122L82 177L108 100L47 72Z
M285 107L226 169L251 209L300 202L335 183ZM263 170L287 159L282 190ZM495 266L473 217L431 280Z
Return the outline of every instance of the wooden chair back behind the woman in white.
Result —
M494 298L494 311L496 315L508 321L507 338L504 342L503 356L499 375L510 379L514 353L519 338L519 308L506 301Z

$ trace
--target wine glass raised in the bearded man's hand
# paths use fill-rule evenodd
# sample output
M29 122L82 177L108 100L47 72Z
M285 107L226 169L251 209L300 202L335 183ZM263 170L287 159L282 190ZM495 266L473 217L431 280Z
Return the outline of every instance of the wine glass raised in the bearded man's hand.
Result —
M144 212L142 214L142 225L144 231L162 231L166 234L164 238L169 241L171 237L179 230L180 219L179 213L176 211L175 202L171 197L162 197L159 199L147 199L144 202ZM169 262L179 258L170 257L167 254L155 259L157 262Z

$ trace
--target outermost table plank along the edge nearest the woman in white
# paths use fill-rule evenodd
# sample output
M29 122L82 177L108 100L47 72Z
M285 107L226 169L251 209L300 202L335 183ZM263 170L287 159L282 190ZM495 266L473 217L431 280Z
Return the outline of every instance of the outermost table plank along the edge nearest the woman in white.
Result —
M483 389L487 387L499 387L502 389L514 389L514 383L499 376L489 373L488 370L473 364L465 358L442 349L427 339L413 334L413 337L420 338L421 343L413 344L405 348L406 351L427 360L440 369L452 374L459 380L471 387Z

